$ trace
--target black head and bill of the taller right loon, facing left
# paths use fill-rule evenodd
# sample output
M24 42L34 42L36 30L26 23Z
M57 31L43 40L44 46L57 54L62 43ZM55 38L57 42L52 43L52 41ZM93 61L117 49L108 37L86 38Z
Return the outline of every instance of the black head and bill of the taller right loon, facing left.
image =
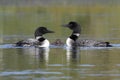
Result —
M81 26L77 22L71 21L63 26L71 29L73 33L81 33Z

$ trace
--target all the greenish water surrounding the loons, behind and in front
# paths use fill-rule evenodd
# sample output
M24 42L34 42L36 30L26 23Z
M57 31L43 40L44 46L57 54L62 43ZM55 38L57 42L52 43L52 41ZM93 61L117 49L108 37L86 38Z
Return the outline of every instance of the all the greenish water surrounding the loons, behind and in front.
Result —
M71 1L71 2L70 2ZM0 1L0 44L34 38L34 30L45 26L55 31L45 37L65 42L71 34L61 25L76 21L80 39L120 43L119 0L2 0ZM79 48L77 53L50 48L1 48L0 80L119 80L119 47Z

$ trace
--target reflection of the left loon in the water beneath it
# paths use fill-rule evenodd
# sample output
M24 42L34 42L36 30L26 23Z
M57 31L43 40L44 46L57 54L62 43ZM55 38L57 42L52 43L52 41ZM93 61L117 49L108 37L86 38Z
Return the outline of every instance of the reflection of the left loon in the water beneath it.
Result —
M44 47L31 47L31 48L20 48L18 50L21 50L22 52L19 51L19 54L27 54L28 60L30 62L39 62L45 65L48 65L49 62L49 48L44 48ZM39 64L38 63L38 64Z

